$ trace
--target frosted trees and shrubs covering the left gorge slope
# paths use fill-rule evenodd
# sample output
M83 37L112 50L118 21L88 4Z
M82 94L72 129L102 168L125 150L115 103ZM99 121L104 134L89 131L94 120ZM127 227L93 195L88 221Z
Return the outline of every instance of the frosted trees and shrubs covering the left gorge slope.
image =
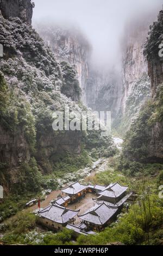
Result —
M20 19L5 20L1 16L0 29L4 46L0 61L0 125L9 137L8 144L15 143L14 160L2 157L0 162L5 191L27 193L40 191L41 187L57 188L61 172L75 172L90 164L91 157L85 151L90 147L107 149L113 155L111 138L103 139L101 131L96 136L93 132L53 131L54 111L63 112L65 106L71 113L87 111L80 102L75 69L66 62L59 64L39 34ZM14 185L12 168L16 168L18 180ZM41 174L52 173L53 182L41 178Z

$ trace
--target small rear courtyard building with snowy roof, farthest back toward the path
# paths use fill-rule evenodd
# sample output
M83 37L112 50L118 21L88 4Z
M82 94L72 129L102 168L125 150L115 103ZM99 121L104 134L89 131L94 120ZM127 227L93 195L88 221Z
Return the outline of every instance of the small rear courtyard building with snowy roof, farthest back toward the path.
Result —
M76 182L66 188L61 190L62 193L65 193L67 196L70 197L71 202L74 202L78 198L82 197L87 192L87 185L80 184Z

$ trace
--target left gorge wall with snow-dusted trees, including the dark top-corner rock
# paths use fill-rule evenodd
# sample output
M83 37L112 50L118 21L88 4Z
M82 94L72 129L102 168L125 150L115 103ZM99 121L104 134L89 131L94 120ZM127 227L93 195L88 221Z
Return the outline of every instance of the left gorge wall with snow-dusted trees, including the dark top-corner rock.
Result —
M20 3L30 13L25 20L18 18ZM55 109L62 111L64 105L82 109L76 103L80 88L75 71L58 64L29 26L30 1L1 1L0 6L0 43L4 48L0 59L0 181L8 191L23 184L32 157L41 172L49 173L58 155L80 154L81 132L54 132L52 115ZM12 13L12 8L17 12Z

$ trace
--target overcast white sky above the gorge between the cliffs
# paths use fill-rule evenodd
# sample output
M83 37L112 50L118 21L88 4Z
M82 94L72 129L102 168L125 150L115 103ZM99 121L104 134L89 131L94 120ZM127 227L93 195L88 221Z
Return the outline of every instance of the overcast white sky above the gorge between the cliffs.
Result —
M97 62L116 58L126 21L162 9L162 0L34 0L33 19L78 25L93 46Z

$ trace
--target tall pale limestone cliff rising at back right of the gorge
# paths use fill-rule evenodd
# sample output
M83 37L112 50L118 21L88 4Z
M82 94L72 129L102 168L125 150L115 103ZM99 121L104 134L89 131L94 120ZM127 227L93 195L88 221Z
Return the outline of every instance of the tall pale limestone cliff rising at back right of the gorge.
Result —
M140 17L133 20L125 29L122 39L122 108L121 121L117 129L123 135L136 118L143 103L151 97L151 84L148 76L148 63L143 48L148 33L150 19Z

